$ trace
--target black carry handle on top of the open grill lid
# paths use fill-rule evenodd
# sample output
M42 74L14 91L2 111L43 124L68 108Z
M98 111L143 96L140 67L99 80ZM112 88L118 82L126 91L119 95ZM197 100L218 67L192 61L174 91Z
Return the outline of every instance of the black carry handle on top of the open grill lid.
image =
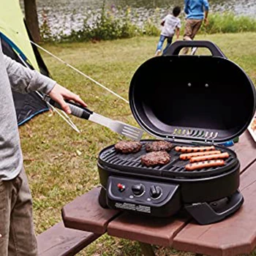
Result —
M214 42L210 41L176 41L173 42L172 45L167 49L165 56L172 56L172 55L178 55L180 53L182 48L207 48L211 51L212 56L215 57L221 57L221 58L227 58L224 53L222 53L222 50L219 49L217 45L214 44Z

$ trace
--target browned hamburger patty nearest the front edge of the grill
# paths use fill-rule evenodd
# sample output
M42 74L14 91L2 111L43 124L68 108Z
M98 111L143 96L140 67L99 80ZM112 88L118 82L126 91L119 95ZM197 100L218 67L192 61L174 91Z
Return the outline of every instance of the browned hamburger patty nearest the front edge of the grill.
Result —
M166 165L170 162L170 155L166 151L154 151L145 154L140 160L146 166Z

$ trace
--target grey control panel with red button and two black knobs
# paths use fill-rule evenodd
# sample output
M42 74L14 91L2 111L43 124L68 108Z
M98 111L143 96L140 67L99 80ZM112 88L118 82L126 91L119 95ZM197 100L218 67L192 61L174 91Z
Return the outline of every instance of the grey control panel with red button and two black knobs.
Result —
M152 207L165 206L173 198L176 199L178 187L178 184L110 176L107 197L111 208L151 214Z

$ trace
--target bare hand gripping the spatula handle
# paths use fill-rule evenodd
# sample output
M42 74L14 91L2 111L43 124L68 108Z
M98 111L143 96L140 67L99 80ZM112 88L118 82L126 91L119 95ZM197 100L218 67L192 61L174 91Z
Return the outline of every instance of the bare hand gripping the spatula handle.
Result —
M77 94L72 93L72 91L69 91L68 89L60 86L59 84L56 84L56 86L53 87L53 89L50 91L49 96L51 99L58 102L59 105L61 105L61 108L67 114L71 114L71 110L64 99L73 100L74 102L82 105L83 107L87 107L83 99L81 99Z

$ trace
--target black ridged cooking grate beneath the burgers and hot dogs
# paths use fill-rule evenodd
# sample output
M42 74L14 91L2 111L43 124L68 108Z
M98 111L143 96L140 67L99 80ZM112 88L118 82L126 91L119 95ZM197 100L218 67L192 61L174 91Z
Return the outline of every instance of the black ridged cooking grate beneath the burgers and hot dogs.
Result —
M146 154L145 145L153 140L143 140L140 143L143 144L141 150L135 154L120 154L116 152L114 146L109 146L103 149L99 153L99 164L102 166L108 166L116 170L140 174L150 174L153 176L168 176L173 178L199 178L206 176L215 176L219 173L224 173L226 170L230 170L230 167L237 164L236 154L228 148L216 146L217 150L227 152L230 157L225 160L225 165L222 167L211 167L200 170L188 171L185 169L185 165L189 163L189 160L179 159L181 153L174 150L176 146L195 146L186 143L173 143L173 147L170 154L170 162L167 165L146 167L141 164L140 158ZM200 145L201 146L201 145Z

